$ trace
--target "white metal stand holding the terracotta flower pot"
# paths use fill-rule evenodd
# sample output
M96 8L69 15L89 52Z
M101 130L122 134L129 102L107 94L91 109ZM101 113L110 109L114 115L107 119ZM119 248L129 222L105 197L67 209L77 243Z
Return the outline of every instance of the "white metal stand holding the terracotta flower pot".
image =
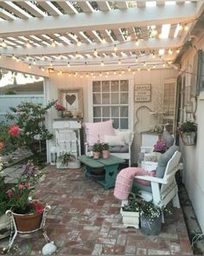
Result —
M45 240L48 242L50 242L49 238L48 238L48 234L46 232L46 230L44 229L44 226L45 226L45 221L46 221L46 216L47 216L47 213L48 211L51 209L50 206L46 206L44 208L44 212L42 214L42 218L41 218L41 225L39 226L39 228L35 229L35 230L32 230L32 231L26 231L26 232L22 232L22 231L19 231L17 229L17 226L16 226L16 221L14 219L14 216L12 214L12 212L10 210L6 211L6 214L8 216L10 216L10 226L11 226L11 231L10 231L10 240L9 240L9 245L7 248L3 248L3 253L7 253L8 251L10 251L10 248L11 246L13 245L14 243L14 240L16 239L16 236L17 234L31 234L31 233L35 233L36 231L41 231L42 232L42 235L43 237L45 238ZM13 233L13 230L14 230L14 235L12 237L12 233Z

